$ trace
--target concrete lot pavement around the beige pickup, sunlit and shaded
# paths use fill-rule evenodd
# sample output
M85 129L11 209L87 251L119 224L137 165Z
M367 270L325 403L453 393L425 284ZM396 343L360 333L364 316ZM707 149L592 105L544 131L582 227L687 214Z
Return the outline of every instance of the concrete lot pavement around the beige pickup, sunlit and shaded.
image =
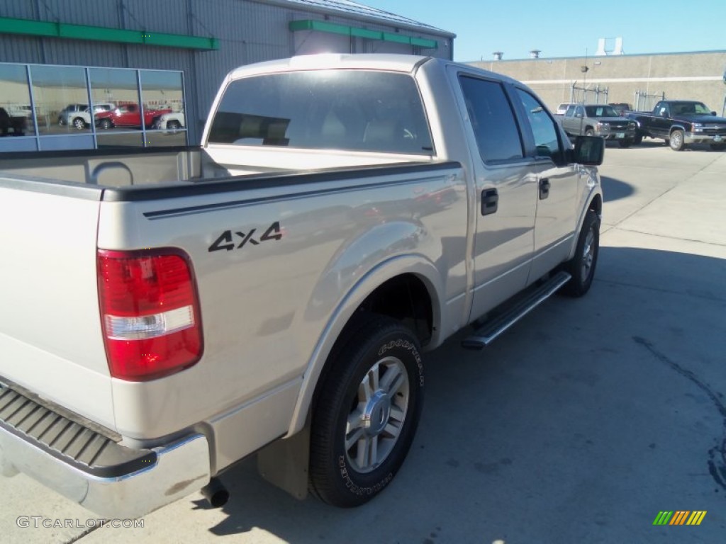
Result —
M425 357L426 405L380 497L298 501L245 461L143 528L19 527L82 508L0 479L3 543L720 543L726 534L726 153L608 147L600 262L492 347ZM698 527L654 527L705 510ZM23 524L21 522L20 524ZM42 524L42 522L41 522Z

